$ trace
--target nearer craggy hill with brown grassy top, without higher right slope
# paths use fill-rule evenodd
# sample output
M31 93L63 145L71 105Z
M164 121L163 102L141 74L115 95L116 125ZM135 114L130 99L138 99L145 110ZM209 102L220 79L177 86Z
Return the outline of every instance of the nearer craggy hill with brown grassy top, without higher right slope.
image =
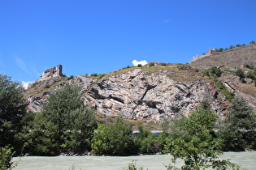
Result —
M55 82L55 83L53 83ZM223 113L223 96L210 79L198 70L185 66L183 70L174 66L130 68L106 74L102 79L76 76L69 81L50 79L38 84L38 88L49 83L51 87L28 95L29 109L40 112L40 104L46 103L50 91L65 83L80 83L85 104L96 108L97 113L107 117L122 114L124 118L159 122L164 117L175 117L177 113L189 114L204 99L210 100L215 113ZM33 87L28 91L33 91ZM34 91L37 91L34 89Z

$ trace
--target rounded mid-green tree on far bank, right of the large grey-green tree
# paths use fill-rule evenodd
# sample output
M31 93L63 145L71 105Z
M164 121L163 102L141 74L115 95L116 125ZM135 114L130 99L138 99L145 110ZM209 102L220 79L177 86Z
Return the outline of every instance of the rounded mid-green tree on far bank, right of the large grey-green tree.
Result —
M92 140L93 152L97 155L127 155L134 151L132 125L124 124L121 115L111 125L98 125Z

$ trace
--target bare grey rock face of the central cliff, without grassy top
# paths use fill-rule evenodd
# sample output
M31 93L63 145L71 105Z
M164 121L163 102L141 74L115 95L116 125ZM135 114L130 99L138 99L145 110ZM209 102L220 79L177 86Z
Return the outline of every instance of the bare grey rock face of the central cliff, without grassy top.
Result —
M134 69L105 77L85 95L86 102L107 116L160 121L179 112L188 114L204 99L215 100L218 92L214 83L206 79L176 82L168 71L148 74Z

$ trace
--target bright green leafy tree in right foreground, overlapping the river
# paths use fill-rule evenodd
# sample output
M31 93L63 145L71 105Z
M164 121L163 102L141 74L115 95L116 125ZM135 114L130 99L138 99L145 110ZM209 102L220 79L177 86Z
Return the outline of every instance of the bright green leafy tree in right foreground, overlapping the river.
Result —
M180 133L188 133L185 137L167 138L166 151L170 151L176 163L176 159L184 159L182 169L218 168L225 169L235 166L228 160L219 160L222 154L219 151L221 140L215 138L215 120L217 116L210 111L207 100L202 102L200 108L196 109L189 118L184 119L184 127ZM181 135L182 136L182 135ZM176 169L169 164L168 169Z

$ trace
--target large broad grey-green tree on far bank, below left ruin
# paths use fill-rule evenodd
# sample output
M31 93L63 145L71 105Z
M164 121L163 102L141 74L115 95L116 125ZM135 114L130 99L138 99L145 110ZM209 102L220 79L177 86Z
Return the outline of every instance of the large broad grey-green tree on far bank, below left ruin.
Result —
M17 137L24 141L25 151L54 155L59 151L90 149L96 121L93 109L84 105L80 86L67 83L52 92L42 108Z

